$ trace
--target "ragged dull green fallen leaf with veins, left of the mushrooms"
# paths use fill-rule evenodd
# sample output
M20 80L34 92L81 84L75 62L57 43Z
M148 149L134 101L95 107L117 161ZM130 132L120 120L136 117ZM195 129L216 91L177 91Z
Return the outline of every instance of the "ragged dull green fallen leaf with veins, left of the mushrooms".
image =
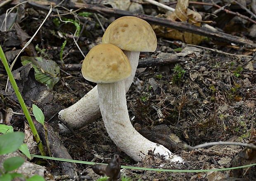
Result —
M32 63L36 71L36 80L46 84L50 89L59 81L59 66L57 63L50 59L42 57L21 57L22 65Z

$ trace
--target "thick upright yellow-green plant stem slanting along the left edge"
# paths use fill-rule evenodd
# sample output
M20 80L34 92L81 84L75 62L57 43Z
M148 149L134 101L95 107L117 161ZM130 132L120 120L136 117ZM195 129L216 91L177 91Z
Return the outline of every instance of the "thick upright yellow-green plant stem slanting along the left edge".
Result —
M18 100L19 100L19 103L20 103L20 105L21 105L21 108L22 108L22 110L23 110L23 112L24 112L24 114L25 114L25 116L26 116L26 118L27 118L28 124L29 124L29 126L30 126L30 128L31 128L31 131L32 131L32 133L33 133L33 137L34 137L34 139L36 140L36 143L37 143L37 145L38 145L38 149L39 149L41 155L45 156L46 154L45 154L45 150L44 150L44 148L43 148L43 144L42 144L42 142L41 142L41 140L40 140L40 137L39 137L39 135L38 135L38 132L37 132L37 130L36 130L36 127L35 127L35 125L34 125L34 123L33 123L33 121L32 121L32 118L31 118L31 116L30 116L30 114L29 114L29 112L28 112L28 108L26 107L26 104L25 104L25 102L24 102L24 100L23 100L23 98L22 98L22 95L21 95L21 93L19 92L19 88L18 88L18 86L17 86L17 84L16 84L16 81L15 81L13 75L12 75L12 72L11 72L11 70L10 70L10 67L9 67L9 65L8 65L8 62L7 62L6 58L5 58L5 54L4 54L4 52L2 51L1 45L0 45L0 58L2 59L2 63L3 63L3 65L5 66L5 70L6 70L7 74L8 74L8 76L9 76L9 80L10 80L10 82L11 82L11 84L12 84L12 87L13 87L13 89L14 89L14 91L15 91L15 94L17 95L17 98L18 98Z

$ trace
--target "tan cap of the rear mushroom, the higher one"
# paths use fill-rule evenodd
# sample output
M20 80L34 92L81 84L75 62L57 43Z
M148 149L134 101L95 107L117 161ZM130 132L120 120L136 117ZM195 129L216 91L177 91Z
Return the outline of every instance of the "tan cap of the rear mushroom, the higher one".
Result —
M102 42L126 51L155 51L157 46L152 27L135 16L123 16L113 21L105 31Z

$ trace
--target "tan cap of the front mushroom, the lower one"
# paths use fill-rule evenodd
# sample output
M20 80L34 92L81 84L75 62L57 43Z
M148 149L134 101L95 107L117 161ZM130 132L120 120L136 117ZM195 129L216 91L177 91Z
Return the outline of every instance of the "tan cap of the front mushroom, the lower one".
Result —
M113 83L131 74L131 65L119 47L113 44L94 46L82 64L83 77L96 83Z

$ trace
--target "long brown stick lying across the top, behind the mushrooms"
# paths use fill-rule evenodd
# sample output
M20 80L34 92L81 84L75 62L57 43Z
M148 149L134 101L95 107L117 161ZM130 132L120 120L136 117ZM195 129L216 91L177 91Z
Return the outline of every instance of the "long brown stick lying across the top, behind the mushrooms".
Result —
M17 1L14 1L14 2L17 3ZM40 9L50 9L50 7L47 7L45 5L39 5L36 2L28 2L28 4L33 7L38 7ZM219 32L219 31L214 31L207 28L194 26L190 23L170 21L168 19L149 16L146 14L132 13L132 12L123 11L120 9L113 9L113 8L105 7L103 5L88 5L88 4L78 3L78 2L76 3L70 2L69 4L66 4L66 8L73 9L74 11L80 9L80 11L99 13L104 16L115 16L116 18L121 16L136 16L155 25L173 28L179 31L192 32L198 35L213 38L220 42L229 42L229 43L239 44L241 46L247 46L248 48L256 47L256 42L253 42L249 39L233 36L224 32ZM57 12L57 11L56 9L52 9L52 12ZM66 13L62 11L59 11L59 12L63 14Z

